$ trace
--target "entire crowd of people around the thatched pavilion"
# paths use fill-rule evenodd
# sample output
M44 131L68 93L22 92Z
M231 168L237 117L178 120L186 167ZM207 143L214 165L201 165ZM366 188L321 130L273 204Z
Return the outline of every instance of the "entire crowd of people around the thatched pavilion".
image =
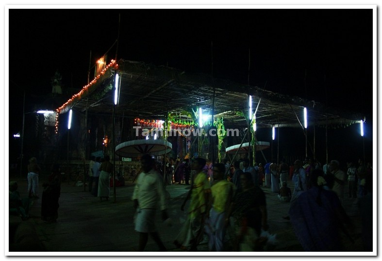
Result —
M102 161L102 162L101 162ZM162 164L149 155L140 158L141 173L133 191L135 230L139 232L138 251L144 251L149 235L166 251L155 227L157 208L164 222L167 214L166 185L185 184L190 189L180 206L187 218L174 238L173 244L186 251L196 251L203 236L208 237L210 251L263 251L264 231L268 230L266 193L276 193L280 204L289 203L288 216L299 243L305 251L341 251L340 233L350 241L351 219L343 208L345 191L356 198L362 216L362 239L365 251L372 251L372 168L363 160L340 162L331 160L324 166L306 158L289 166L284 160L263 165L249 165L248 159L231 164L207 164L201 157L191 160L168 160ZM41 168L32 157L28 165L28 198L20 198L17 182L9 184L9 213L29 218L31 200L39 198L38 175ZM89 164L88 190L94 196L109 197L113 164L105 156L93 157ZM166 173L166 177L164 177ZM293 184L293 191L288 187ZM345 185L348 184L348 188ZM41 218L55 222L58 218L61 171L52 166L44 182L41 198ZM263 187L263 189L262 189ZM188 209L185 210L189 201Z

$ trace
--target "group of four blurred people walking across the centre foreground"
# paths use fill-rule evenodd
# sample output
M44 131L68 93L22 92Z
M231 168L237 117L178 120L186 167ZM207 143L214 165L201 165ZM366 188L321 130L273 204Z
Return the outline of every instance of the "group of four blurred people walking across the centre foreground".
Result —
M147 166L148 161L150 162ZM181 168L188 162L183 162ZM153 206L160 202L160 210L163 219L168 218L165 198L165 184L163 178L155 172L156 164L149 155L141 159L143 172L139 174L133 193L134 206L137 209L135 230L140 233L139 247L144 250L150 234L158 244L160 251L165 250L159 235L156 232L153 216L143 215L145 211L153 211ZM182 164L182 163L180 163ZM212 166L212 174L208 174L206 160L196 157L190 164L190 185L181 210L185 210L186 203L190 201L187 218L183 223L178 235L174 239L176 247L187 251L196 251L203 235L208 236L208 248L210 251L258 251L264 246L261 237L262 230L268 229L266 197L259 187L259 182L253 181L253 173L249 169L249 162L245 163L244 171L236 172L239 175L239 187L233 179L227 178L227 163L216 163ZM171 170L171 168L169 167ZM178 167L179 169L179 167ZM156 174L153 174L156 173ZM179 175L176 169L174 176ZM152 175L156 175L155 181ZM161 177L161 178L159 178ZM256 176L257 178L257 176ZM257 178L258 179L258 178ZM166 179L167 180L167 179ZM174 177L179 183L179 176ZM182 181L180 181L182 182ZM184 182L185 183L185 182ZM152 195L157 195L156 197ZM225 241L228 235L230 244ZM141 238L143 238L141 240Z

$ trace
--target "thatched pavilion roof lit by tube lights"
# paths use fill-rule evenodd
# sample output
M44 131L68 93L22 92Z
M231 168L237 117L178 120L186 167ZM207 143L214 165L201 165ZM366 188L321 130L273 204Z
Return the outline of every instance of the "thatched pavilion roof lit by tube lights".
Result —
M252 95L253 112L260 101L256 123L262 127L300 127L302 108L308 109L309 125L348 126L364 118L339 108L326 107L314 101L216 79L205 74L188 74L182 70L153 66L143 62L117 61L108 68L91 89L83 91L75 101L61 106L60 113L68 108L94 113L110 113L114 103L114 77L120 77L119 103L116 115L145 119L166 120L167 112L179 113L191 107L212 111L215 87L214 115L224 118L226 127L246 127L247 122L237 112L248 114L248 95Z

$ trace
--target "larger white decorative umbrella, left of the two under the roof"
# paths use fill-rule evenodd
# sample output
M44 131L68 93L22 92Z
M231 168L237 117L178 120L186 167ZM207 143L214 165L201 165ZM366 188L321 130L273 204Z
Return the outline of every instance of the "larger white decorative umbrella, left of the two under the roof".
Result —
M169 153L172 144L163 139L136 139L122 142L116 146L116 155L121 157L140 157L144 154L158 156Z

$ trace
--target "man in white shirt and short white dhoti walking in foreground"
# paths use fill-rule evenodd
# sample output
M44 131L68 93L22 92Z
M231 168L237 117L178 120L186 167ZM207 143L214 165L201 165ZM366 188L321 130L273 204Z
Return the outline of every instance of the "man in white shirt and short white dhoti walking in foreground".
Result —
M166 193L160 174L153 169L154 164L155 160L150 155L142 156L142 172L138 175L132 197L137 212L135 230L139 232L138 251L145 249L149 234L158 244L159 251L166 251L166 247L155 228L155 213L158 205L162 210L162 219L168 218Z

